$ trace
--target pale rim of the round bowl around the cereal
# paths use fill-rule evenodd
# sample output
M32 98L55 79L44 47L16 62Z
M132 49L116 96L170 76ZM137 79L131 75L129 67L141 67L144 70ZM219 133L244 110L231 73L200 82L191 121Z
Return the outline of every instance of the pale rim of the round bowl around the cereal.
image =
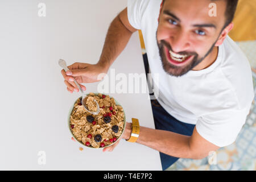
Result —
M93 94L96 95L96 96L98 96L98 94L100 94L100 93L93 93ZM102 94L102 93L101 93L101 94ZM88 95L90 95L90 93L86 94L86 96L88 96ZM102 94L102 95L103 95L103 94ZM114 97L112 97L112 96L110 96L110 95L108 95L108 94L106 94L106 96L109 96L110 98L114 98ZM79 98L81 98L81 97L82 97L82 96L78 97L78 98L76 99L76 101L77 101ZM91 148L91 149L103 149L103 148L105 148L105 147L112 146L114 143L116 143L119 139L122 138L123 132L125 131L125 127L126 127L126 116L125 116L125 110L124 110L124 109L123 109L123 114L124 114L124 117L123 117L123 131L122 131L121 135L117 138L117 140L115 140L115 142L113 142L112 144L109 144L108 146L104 146L104 147L95 148L95 147L92 147L92 146L86 146L86 145L83 144L81 141L77 140L76 137L74 136L74 134L72 133L72 130L71 130L71 127L70 127L70 117L71 117L71 113L72 113L72 111L73 111L74 105L76 104L76 101L72 104L71 108L69 109L69 113L68 113L68 129L69 129L69 131L70 131L70 133L71 133L73 139L76 140L76 142L78 142L78 143L79 143L80 145L82 145L83 147L87 147L87 148ZM114 98L114 101L115 101L115 105L117 105L117 106L122 106L122 105L119 104L119 102L118 102L117 100L115 100L115 98ZM122 108L123 108L123 106L122 106Z

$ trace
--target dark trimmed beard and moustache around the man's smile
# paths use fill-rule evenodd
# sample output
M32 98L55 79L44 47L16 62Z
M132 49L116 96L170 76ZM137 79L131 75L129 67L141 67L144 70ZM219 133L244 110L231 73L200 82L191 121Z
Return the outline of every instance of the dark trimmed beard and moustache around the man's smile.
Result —
M156 32L156 34L157 34L157 32ZM160 40L160 43L158 43L158 41L156 41L156 42L158 44L159 55L160 55L160 59L162 61L162 66L163 66L164 71L168 75L180 77L180 76L185 75L188 71L190 71L191 69L196 67L196 65L198 65L199 63L201 63L201 61L203 61L205 59L205 57L207 57L209 55L209 53L212 52L217 40L216 40L216 42L214 42L212 44L209 51L203 57L199 57L198 53L196 53L196 52L186 52L186 51L178 52L179 55L194 56L193 59L190 60L188 64L185 64L183 66L173 65L170 63L170 61L167 60L167 57L166 57L167 55L164 51L164 46L166 46L168 51L170 51L170 50L172 51L170 44L168 44L164 40ZM172 52L174 52L174 51L172 51Z

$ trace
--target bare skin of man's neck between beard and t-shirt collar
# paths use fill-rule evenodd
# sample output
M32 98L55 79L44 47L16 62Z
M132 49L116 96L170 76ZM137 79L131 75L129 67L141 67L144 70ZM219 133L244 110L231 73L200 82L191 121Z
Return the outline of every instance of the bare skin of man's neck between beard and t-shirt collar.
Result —
M196 67L194 67L192 70L199 71L201 69L208 68L210 65L214 63L214 61L216 61L217 56L218 56L218 47L214 46L212 49L212 52L210 52L209 55L205 57L205 59L201 61L201 63L196 65Z

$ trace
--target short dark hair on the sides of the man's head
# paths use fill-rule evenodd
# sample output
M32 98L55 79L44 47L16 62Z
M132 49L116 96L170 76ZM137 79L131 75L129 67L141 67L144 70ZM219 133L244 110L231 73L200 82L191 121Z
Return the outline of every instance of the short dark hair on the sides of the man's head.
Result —
M163 0L163 4L164 4L164 1L166 0ZM219 0L210 0L210 1L219 1ZM226 12L225 12L226 22L224 24L224 28L228 26L229 23L231 23L232 20L234 19L234 14L236 13L237 3L238 3L238 0L225 0L225 1L226 1Z

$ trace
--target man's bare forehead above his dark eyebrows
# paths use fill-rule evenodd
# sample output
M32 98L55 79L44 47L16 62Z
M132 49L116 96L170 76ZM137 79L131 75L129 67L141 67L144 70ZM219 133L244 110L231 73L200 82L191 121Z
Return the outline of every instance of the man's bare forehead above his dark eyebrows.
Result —
M210 6L210 3L214 3ZM212 10L217 16L210 16ZM216 27L223 26L225 22L225 0L165 0L163 11L168 10L180 19L181 23L212 23ZM163 12L162 11L162 12Z

